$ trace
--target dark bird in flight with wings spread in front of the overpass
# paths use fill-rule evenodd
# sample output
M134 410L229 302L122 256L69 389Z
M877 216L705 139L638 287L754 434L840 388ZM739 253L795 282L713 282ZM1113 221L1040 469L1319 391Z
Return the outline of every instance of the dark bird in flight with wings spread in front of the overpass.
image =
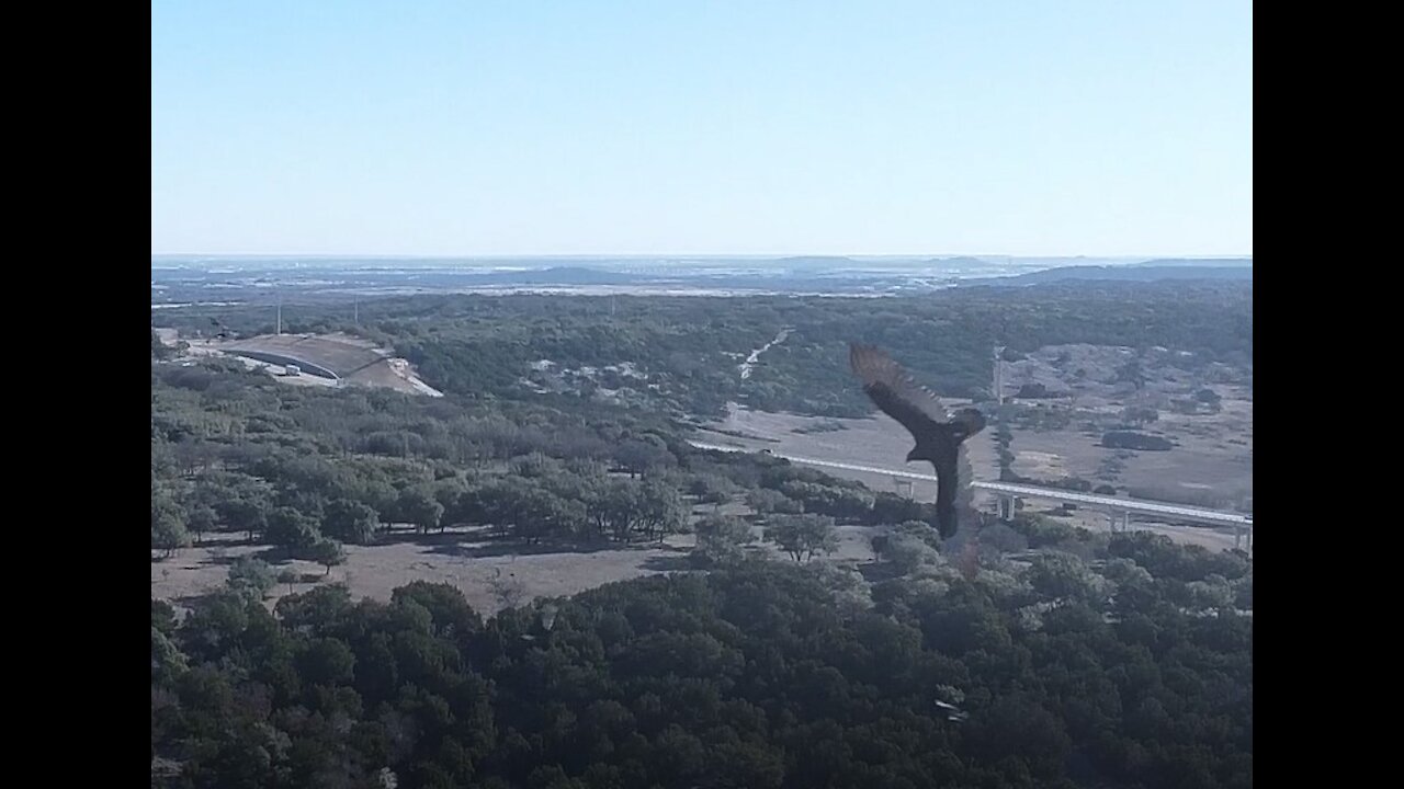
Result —
M917 439L907 462L927 460L936 470L936 529L942 539L949 538L956 533L956 498L965 491L962 482L970 484L965 441L984 430L984 414L977 409L946 411L935 392L913 380L873 345L849 345L848 359L868 397Z

